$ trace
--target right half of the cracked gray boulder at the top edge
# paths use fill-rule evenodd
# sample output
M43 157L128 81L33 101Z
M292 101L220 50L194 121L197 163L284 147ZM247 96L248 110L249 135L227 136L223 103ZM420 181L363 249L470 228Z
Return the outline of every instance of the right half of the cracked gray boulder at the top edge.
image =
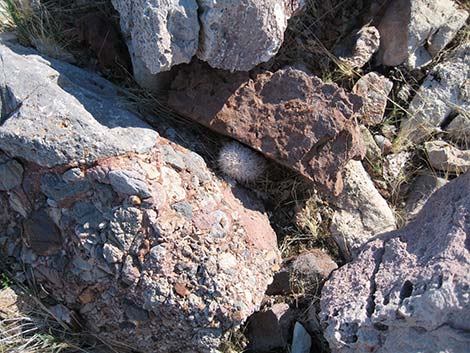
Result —
M305 0L202 0L197 56L212 67L249 71L277 54L287 21Z

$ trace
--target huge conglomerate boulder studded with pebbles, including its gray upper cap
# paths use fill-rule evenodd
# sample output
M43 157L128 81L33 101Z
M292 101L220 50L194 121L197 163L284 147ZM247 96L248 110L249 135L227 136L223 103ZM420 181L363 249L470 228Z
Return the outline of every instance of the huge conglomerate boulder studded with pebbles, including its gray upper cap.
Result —
M2 258L24 265L103 339L143 352L217 348L279 267L259 205L113 107L104 81L4 46L0 57L14 73L2 82L2 107L23 102L0 126ZM87 91L90 80L109 94Z

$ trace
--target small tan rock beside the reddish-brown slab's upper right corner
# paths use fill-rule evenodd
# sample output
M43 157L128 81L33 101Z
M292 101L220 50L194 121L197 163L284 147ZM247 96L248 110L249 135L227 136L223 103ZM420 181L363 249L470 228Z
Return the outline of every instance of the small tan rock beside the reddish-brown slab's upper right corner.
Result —
M362 76L356 82L352 92L364 99L361 120L365 125L374 126L383 122L387 98L392 87L392 81L375 72Z

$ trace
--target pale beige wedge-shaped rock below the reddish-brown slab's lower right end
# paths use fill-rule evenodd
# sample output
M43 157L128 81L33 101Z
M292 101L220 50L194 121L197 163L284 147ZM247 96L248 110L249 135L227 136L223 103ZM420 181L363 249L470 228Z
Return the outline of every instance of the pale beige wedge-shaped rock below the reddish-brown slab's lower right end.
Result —
M330 230L342 255L351 259L370 238L394 230L396 220L361 162L348 163L344 180L343 193L333 201Z

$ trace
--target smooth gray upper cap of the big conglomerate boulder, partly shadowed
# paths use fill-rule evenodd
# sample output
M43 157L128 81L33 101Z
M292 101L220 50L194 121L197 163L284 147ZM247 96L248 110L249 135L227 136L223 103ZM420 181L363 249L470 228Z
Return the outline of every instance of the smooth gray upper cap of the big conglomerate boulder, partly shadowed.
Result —
M124 108L103 78L11 43L0 43L0 149L53 167L146 152L158 134Z

